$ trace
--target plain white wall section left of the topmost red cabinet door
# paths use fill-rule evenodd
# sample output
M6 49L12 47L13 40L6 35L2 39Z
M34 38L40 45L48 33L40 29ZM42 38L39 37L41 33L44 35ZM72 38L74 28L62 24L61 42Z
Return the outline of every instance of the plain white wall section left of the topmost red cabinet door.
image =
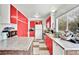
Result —
M10 4L0 4L0 23L10 23Z

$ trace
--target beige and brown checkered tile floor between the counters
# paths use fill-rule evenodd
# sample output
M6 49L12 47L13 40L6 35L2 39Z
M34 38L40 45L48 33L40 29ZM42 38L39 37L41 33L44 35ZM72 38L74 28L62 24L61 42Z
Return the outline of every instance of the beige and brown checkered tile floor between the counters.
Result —
M49 55L49 51L45 45L44 40L34 40L33 55Z

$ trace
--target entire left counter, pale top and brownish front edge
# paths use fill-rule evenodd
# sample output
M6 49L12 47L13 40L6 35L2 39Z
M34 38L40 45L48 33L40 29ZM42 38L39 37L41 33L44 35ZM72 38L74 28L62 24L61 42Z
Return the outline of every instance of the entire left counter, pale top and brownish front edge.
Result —
M0 41L0 55L30 55L34 38L12 37Z

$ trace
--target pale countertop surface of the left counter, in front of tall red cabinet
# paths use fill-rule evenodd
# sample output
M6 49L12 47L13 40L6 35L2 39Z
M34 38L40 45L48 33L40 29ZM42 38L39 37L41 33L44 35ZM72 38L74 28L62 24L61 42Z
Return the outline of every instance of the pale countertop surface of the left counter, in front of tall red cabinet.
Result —
M0 50L26 50L32 45L34 38L12 37L0 41Z

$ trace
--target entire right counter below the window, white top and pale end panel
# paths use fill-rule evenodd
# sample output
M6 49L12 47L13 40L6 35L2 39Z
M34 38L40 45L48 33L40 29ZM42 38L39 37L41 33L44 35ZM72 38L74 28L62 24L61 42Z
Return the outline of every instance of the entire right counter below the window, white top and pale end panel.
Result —
M46 33L51 38L53 44L53 55L79 55L79 44L54 38L52 34Z

